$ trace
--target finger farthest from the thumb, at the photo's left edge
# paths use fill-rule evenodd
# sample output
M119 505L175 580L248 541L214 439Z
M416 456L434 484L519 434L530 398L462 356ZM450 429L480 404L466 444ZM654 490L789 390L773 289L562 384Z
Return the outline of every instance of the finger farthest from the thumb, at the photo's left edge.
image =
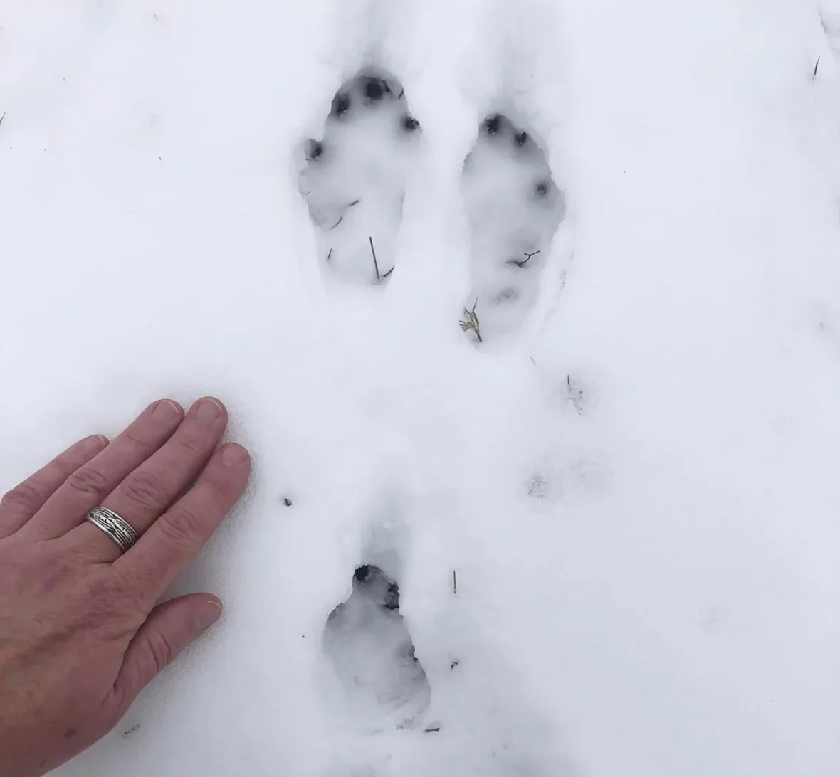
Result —
M54 491L106 445L101 434L86 437L55 457L0 499L0 539L18 531L33 517Z

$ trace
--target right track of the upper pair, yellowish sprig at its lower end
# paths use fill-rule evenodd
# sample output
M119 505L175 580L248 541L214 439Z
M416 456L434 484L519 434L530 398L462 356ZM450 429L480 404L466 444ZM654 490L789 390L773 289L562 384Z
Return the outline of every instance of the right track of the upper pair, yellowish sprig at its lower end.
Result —
M516 332L563 218L563 193L533 136L496 113L464 162L472 291L461 328L476 341Z

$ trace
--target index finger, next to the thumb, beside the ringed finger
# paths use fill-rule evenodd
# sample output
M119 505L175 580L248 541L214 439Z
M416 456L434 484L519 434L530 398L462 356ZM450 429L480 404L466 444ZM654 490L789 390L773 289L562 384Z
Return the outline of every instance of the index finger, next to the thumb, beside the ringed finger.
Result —
M251 458L241 445L223 445L195 486L158 518L113 566L143 586L150 605L204 547L248 484Z

